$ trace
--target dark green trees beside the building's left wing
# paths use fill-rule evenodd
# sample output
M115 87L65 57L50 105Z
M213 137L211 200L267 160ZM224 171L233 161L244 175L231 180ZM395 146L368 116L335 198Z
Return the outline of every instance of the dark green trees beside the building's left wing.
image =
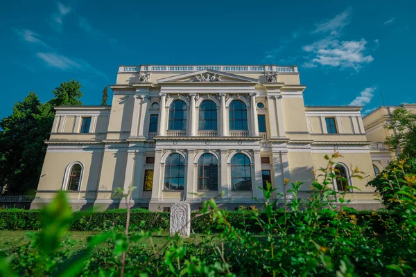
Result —
M31 92L0 120L0 193L28 194L37 188L49 139L55 105L83 105L79 82L63 82L53 90L55 98L42 104Z

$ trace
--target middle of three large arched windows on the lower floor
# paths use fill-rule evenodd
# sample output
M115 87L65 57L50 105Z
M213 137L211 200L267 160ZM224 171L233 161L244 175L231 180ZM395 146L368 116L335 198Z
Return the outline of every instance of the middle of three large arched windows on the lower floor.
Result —
M198 160L198 190L218 190L218 161L213 154Z

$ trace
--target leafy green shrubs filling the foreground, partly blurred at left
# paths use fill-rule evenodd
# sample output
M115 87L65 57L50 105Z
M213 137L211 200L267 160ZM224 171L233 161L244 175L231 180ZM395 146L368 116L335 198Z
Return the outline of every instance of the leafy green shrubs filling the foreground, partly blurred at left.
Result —
M318 172L322 181L313 182L309 202L297 197L302 188L300 182L286 184L290 198L278 194L285 204L283 209L271 202L270 185L263 190L266 201L261 212L254 206L250 210L227 212L218 208L215 199L205 202L200 213L191 215L191 225L200 224L205 231L202 242L198 243L174 236L156 247L153 238L161 233L146 231L149 226L141 222L132 224L135 226L123 233L112 229L94 235L85 249L73 253L73 241L62 237L62 231L70 228L71 213L63 195L59 195L44 211L43 231L31 235L33 242L1 254L4 258L0 258L0 273L8 276L13 273L19 276L119 276L120 273L125 276L413 276L416 270L415 175L409 175L404 166L397 166L403 171L403 177L390 180L400 184L394 213L357 212L345 206L348 202L345 193L331 189L335 177L332 159L336 157L339 155L326 157L328 166ZM358 177L359 171L354 170L351 175ZM135 211L130 212L134 217ZM124 211L110 214L113 218L125 216ZM239 220L239 224L234 220ZM254 232L252 226L261 233ZM51 230L55 231L50 233ZM218 234L214 235L213 230L219 231ZM52 247L40 243L46 233L51 237L48 244Z

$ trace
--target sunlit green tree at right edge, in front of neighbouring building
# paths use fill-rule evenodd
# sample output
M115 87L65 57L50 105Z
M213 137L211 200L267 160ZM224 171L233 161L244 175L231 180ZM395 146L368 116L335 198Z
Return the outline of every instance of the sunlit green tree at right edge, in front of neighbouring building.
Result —
M416 114L410 113L407 109L395 109L391 121L385 127L394 132L385 139L385 144L390 150L395 151L399 148L406 157L416 156Z

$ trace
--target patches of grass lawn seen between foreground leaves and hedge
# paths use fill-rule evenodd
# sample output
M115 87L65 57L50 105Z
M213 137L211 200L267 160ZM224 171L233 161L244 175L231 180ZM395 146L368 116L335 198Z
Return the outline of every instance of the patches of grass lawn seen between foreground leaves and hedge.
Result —
M10 248L19 247L21 245L27 244L31 241L30 233L35 233L36 231L0 231L0 251L7 250ZM78 231L70 231L65 234L67 238L71 240L75 240L76 242L71 245L72 251L78 251L85 247L87 243L87 238L92 235L98 234L97 232L78 232ZM191 234L189 238L184 238L189 243L199 244L202 242L202 238L204 235L201 234ZM146 238L141 240L140 244L146 244L146 248L149 249L153 248L159 250L162 247L166 247L168 244L169 235L167 232L162 233L160 235L154 235L151 239ZM214 241L218 241L216 235L214 235Z

